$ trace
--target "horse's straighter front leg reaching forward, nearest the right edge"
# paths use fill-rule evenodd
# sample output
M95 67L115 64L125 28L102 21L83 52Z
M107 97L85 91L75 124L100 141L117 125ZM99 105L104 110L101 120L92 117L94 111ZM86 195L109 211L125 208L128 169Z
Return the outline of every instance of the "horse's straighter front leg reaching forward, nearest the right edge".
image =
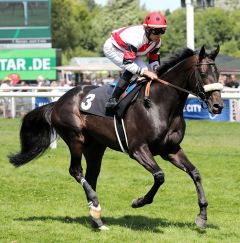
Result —
M189 161L189 159L180 147L162 157L164 159L169 160L176 167L187 172L191 176L196 186L198 204L200 207L200 213L196 218L196 224L201 228L206 227L208 202L205 197L205 193L202 186L202 180L198 169Z

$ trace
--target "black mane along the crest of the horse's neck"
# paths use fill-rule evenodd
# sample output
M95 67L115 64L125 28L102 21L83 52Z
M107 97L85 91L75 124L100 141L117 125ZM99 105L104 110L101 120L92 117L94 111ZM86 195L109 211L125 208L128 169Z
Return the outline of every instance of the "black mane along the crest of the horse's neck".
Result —
M164 64L157 69L157 75L158 76L162 75L163 73L167 72L170 68L178 64L179 62L195 54L196 52L189 48L184 48L183 50L174 53L172 56L169 57L168 61L164 62Z

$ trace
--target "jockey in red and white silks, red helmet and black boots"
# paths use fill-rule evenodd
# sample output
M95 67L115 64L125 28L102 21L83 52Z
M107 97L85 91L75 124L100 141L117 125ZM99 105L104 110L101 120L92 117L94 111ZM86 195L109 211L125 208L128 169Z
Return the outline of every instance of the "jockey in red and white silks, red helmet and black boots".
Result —
M166 28L165 17L157 12L151 12L144 19L143 25L114 30L111 37L106 40L103 47L105 56L123 70L112 97L106 103L106 109L113 110L116 107L119 97L133 75L157 79L154 71L160 65L160 37ZM141 56L148 56L149 66L140 58Z

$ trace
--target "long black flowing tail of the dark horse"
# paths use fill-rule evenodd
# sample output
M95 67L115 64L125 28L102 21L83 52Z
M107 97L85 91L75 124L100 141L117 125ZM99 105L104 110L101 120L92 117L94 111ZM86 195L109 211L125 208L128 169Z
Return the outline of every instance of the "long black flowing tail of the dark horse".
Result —
M21 151L8 156L15 167L42 155L56 139L55 129L51 125L53 106L54 102L36 108L24 116L20 129Z

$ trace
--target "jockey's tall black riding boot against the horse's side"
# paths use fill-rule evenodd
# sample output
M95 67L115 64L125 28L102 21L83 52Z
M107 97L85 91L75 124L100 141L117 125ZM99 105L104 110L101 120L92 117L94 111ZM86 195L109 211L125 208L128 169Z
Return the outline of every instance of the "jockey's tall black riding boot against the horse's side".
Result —
M111 98L107 101L106 103L106 109L107 110L113 110L117 103L118 100L121 96L121 94L124 92L126 89L127 85L129 84L130 79L132 78L133 74L130 73L129 71L125 71L121 78L119 79Z

